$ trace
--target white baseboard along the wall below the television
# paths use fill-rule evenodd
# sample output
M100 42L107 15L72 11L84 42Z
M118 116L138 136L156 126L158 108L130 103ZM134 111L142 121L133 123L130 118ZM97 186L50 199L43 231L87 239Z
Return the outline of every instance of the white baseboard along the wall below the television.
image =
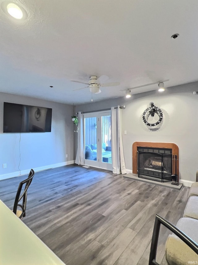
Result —
M46 169L49 169L49 168L71 165L71 164L74 164L74 162L75 162L74 160L71 160L71 161L57 163L57 164L52 164L52 165L47 165L47 166L43 166L43 167L36 167L36 168L33 168L33 170L35 172L38 172L38 171L46 170ZM10 178L13 178L13 177L18 177L18 176L29 174L30 169L21 170L21 174L20 174L20 171L15 171L15 172L11 172L11 173L8 173L8 174L0 175L0 180L10 179Z

